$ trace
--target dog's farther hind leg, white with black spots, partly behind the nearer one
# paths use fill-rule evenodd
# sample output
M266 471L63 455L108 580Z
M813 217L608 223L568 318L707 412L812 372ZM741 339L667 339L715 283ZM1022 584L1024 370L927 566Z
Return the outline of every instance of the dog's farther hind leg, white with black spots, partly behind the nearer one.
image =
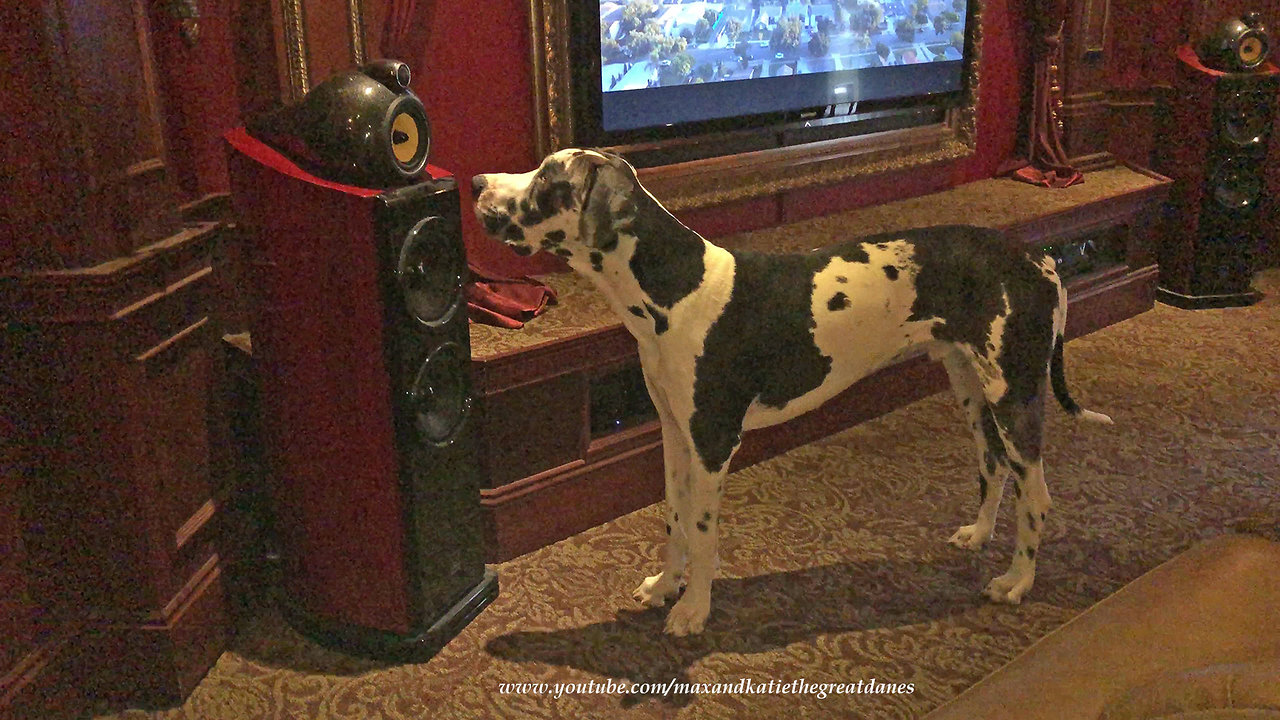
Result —
M996 511L1005 492L1009 459L973 361L961 351L952 350L942 356L942 365L978 450L978 519L972 525L961 525L947 542L966 550L979 550L991 539L996 528Z

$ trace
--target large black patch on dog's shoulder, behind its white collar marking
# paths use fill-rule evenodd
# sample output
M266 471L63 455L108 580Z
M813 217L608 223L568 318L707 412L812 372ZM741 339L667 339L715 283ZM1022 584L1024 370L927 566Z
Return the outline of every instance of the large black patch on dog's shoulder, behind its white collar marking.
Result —
M804 255L733 252L733 288L694 366L690 434L703 465L719 470L741 442L751 402L782 407L817 388L831 357L813 340L813 278L833 256L860 246Z

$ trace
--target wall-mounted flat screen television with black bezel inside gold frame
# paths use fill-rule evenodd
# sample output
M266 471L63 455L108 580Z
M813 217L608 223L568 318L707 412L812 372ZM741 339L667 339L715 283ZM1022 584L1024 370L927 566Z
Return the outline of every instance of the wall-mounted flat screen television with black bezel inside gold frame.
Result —
M787 145L938 122L961 102L974 24L968 0L570 0L568 10L575 141L596 146L744 129Z

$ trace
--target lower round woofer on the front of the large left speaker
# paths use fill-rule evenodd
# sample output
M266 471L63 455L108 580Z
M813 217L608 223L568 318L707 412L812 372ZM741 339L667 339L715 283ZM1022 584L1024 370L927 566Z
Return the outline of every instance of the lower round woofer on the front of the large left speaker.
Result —
M444 343L417 370L410 402L419 436L431 445L448 445L471 411L465 372L467 357L457 343Z

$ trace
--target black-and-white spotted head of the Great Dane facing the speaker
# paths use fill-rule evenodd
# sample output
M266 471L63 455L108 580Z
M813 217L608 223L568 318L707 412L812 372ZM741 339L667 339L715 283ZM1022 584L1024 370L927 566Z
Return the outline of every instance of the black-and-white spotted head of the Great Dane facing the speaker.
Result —
M626 160L595 150L548 155L527 173L485 173L471 179L476 218L520 255L547 250L572 260L598 250L596 229L618 197L637 190Z

